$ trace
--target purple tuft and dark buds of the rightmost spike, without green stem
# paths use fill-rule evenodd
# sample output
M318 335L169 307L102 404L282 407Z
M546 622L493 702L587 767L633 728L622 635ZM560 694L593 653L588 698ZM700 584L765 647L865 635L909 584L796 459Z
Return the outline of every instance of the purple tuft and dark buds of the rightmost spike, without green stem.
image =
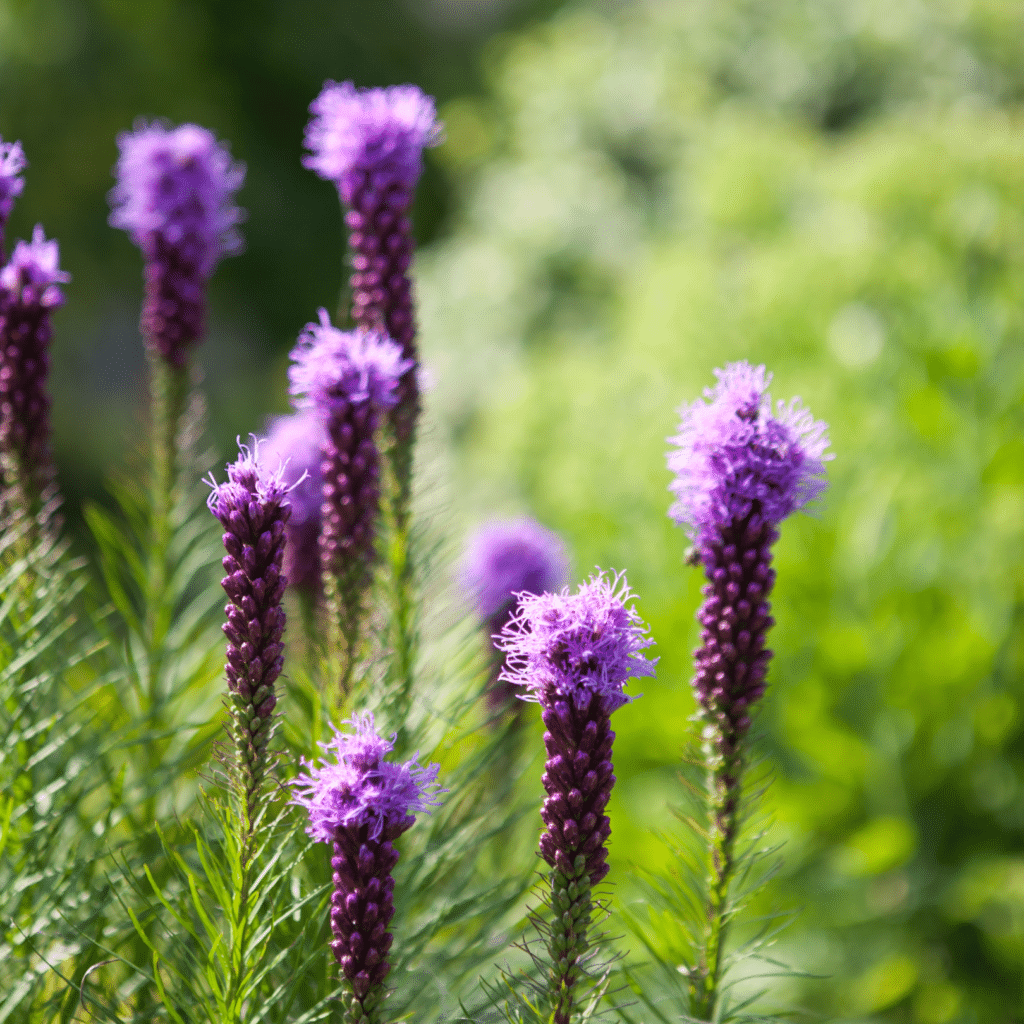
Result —
M670 514L689 527L708 575L693 685L728 759L750 727L771 658L765 638L776 527L824 490L828 438L797 399L772 412L764 367L734 362L716 373L707 402L684 407L671 438L677 501Z

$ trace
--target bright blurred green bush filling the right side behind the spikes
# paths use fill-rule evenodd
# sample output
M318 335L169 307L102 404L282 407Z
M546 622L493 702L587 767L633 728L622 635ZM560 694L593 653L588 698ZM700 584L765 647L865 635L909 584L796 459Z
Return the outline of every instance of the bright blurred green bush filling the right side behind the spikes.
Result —
M831 489L783 528L761 720L768 903L803 908L781 955L825 978L788 994L828 1019L1024 997L1021 17L579 11L444 112L470 198L421 296L465 514L528 509L578 574L627 568L662 656L618 721L620 879L665 857L691 728L675 411L748 358L831 425Z

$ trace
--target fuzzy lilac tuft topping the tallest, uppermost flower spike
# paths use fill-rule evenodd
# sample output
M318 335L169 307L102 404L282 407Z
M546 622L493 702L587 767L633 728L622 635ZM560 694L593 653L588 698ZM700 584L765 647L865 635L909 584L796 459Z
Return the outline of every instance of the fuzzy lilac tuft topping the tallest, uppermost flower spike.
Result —
M310 156L303 164L335 182L346 203L365 183L381 191L396 184L412 195L424 146L440 141L434 101L415 85L356 89L328 82L309 110Z

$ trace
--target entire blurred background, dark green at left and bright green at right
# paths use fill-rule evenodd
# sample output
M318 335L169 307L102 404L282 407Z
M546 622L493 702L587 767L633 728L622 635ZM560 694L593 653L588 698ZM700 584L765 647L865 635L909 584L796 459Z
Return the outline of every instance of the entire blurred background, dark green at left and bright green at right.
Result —
M765 362L837 455L777 551L769 902L802 908L781 958L824 977L777 1000L1024 1020L1022 40L1014 0L0 0L0 134L31 161L10 231L42 221L74 274L69 517L141 417L115 135L195 120L249 166L201 353L226 458L287 408L344 276L336 195L299 165L309 100L417 82L447 129L416 211L441 525L538 516L579 575L628 570L657 641L616 715L613 871L665 863L691 728L700 579L665 438L715 367Z

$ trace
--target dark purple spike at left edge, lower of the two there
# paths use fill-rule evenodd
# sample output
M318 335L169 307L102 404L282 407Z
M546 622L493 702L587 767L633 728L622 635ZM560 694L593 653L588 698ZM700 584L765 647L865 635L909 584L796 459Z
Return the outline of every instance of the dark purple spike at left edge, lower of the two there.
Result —
M33 507L53 482L50 453L50 313L63 304L54 241L37 225L0 270L0 456L7 484Z

